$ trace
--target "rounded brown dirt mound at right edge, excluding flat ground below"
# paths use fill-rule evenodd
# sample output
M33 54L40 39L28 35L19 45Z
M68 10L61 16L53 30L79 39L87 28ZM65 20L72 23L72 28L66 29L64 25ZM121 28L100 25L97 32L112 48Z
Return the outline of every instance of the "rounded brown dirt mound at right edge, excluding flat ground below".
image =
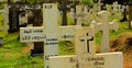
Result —
M127 32L121 34L118 38L110 41L111 50L127 52L132 48L132 33Z

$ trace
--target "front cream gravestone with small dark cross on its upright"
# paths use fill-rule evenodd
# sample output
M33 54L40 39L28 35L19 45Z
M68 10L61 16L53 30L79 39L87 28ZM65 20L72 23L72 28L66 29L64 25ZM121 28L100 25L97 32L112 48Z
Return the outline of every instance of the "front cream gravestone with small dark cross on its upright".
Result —
M50 57L48 68L123 68L122 53L95 54L94 32L92 26L77 27L75 35L76 55ZM84 42L88 43L89 46Z

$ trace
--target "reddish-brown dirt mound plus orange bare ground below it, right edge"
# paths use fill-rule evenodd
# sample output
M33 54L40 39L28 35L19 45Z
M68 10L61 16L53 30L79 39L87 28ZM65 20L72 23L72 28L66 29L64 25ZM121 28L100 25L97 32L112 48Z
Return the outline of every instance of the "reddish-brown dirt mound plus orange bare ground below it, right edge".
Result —
M132 33L127 32L110 42L112 52L123 52L123 68L132 68Z

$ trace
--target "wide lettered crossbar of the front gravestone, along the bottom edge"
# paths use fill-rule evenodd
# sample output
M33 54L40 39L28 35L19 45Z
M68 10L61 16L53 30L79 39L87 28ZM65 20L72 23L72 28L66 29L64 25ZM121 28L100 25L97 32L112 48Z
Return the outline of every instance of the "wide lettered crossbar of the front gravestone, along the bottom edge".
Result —
M103 53L50 58L50 68L123 68L122 53Z

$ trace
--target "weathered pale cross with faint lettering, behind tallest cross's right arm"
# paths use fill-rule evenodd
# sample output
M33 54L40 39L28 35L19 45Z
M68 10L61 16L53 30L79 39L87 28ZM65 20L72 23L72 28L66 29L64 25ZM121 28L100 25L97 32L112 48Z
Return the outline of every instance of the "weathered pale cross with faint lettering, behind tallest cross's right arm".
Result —
M88 10L87 5L76 5L76 13L74 13L74 9L72 9L70 16L77 19L77 25L87 24L96 18L96 10Z

